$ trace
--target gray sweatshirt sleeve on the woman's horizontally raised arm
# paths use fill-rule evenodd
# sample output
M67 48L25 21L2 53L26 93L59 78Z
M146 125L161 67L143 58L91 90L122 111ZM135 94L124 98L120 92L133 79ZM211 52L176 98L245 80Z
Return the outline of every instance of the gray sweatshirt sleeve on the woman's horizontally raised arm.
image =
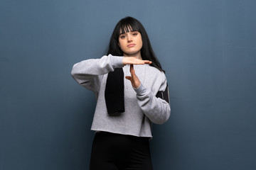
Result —
M121 68L123 57L105 55L100 59L83 60L73 65L71 75L81 86L97 92L104 74Z

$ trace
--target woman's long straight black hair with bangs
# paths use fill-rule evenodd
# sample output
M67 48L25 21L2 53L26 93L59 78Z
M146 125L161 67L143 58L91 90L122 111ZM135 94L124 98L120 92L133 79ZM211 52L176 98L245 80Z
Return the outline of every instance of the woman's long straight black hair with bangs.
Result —
M118 23L117 26L115 26L113 33L110 38L110 45L109 50L107 52L107 55L114 55L114 56L123 56L124 52L122 52L121 48L119 47L119 35L120 30L122 33L129 32L129 28L131 28L132 31L139 31L142 35L142 49L141 49L141 55L142 60L149 60L152 62L150 64L152 67L156 67L161 72L164 72L163 69L161 69L161 64L159 63L159 60L157 60L156 55L154 54L154 51L151 47L149 36L146 33L146 30L142 26L142 23L140 23L137 19L132 18L130 16L127 16L125 18L122 18Z

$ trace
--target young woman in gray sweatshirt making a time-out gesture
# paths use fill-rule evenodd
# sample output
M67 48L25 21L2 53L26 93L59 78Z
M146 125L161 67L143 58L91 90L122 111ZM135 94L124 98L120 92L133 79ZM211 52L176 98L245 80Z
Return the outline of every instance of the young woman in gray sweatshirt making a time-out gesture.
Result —
M97 98L90 169L153 169L151 124L166 122L171 108L164 71L142 24L122 18L107 55L74 64L71 74Z

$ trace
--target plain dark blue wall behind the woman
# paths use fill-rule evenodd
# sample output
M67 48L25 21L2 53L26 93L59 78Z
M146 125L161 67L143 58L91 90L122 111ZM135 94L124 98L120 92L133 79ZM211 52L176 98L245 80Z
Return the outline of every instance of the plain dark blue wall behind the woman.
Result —
M0 169L88 169L95 96L70 70L138 18L166 70L156 170L256 169L256 1L1 0Z

